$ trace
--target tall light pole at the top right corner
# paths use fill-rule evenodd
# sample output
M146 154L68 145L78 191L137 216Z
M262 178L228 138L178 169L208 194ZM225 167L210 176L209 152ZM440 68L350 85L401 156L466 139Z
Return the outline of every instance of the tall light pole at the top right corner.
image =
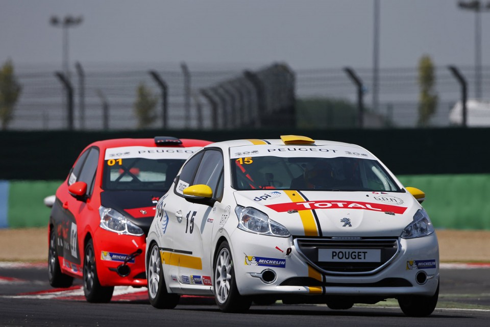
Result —
M480 13L490 11L490 2L483 6L479 0L460 1L458 7L475 12L475 98L481 99L481 20Z

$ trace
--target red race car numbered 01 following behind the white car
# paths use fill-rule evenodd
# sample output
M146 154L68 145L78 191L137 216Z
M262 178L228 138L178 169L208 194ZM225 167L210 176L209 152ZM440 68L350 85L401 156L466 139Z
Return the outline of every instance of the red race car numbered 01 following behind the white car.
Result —
M81 278L89 302L110 301L114 286L146 286L146 234L158 199L185 160L209 143L155 137L88 145L56 191L50 284L69 287Z

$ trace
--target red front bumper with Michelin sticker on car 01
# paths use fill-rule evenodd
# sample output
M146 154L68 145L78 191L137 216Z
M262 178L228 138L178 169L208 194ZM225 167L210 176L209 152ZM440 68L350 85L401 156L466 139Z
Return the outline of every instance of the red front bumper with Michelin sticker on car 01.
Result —
M102 228L93 237L97 276L102 286L146 286L144 251L146 236L118 235ZM141 249L141 254L127 262L127 276L116 272L126 257Z

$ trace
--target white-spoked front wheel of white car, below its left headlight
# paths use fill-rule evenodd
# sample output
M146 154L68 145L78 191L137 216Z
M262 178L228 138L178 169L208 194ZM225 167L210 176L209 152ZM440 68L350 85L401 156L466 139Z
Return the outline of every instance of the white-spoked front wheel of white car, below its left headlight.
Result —
M214 258L214 299L223 312L245 312L252 305L252 298L240 295L236 287L233 258L227 241L221 243Z

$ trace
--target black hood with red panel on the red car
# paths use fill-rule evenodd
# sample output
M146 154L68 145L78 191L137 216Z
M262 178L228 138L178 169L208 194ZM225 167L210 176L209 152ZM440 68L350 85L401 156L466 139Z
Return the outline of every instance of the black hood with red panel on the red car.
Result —
M163 194L156 191L104 191L101 204L124 214L148 235L158 199Z

